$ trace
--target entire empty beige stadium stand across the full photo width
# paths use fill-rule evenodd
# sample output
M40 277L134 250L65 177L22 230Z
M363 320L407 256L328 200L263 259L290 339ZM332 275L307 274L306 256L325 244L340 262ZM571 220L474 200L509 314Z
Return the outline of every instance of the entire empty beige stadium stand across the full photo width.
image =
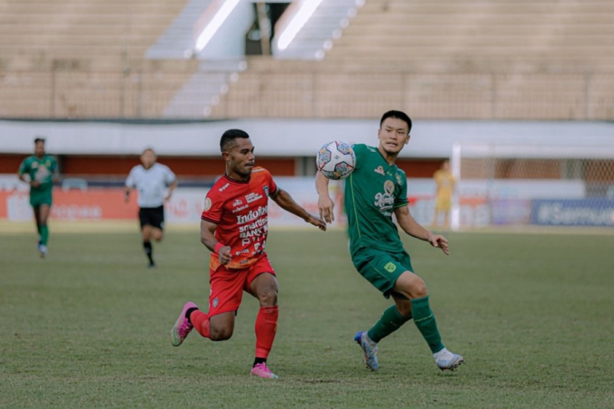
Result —
M343 31L314 13L322 61L147 59L193 3L4 2L0 117L614 119L608 0L366 0Z

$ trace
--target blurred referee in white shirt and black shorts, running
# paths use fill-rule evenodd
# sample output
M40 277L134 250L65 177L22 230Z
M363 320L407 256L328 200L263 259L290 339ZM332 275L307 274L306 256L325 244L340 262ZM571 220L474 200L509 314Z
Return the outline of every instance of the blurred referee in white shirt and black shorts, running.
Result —
M125 201L128 202L131 189L139 191L139 221L149 268L155 267L151 239L162 240L164 202L171 198L176 187L177 177L168 166L156 162L155 152L151 148L143 151L141 164L134 166L126 178Z

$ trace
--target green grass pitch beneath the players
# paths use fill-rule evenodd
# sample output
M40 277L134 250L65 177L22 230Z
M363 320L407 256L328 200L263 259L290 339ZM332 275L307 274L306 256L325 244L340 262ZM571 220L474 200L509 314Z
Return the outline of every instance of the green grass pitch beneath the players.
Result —
M146 269L137 231L0 232L0 407L611 408L614 236L449 234L451 256L404 239L443 342L465 357L435 367L413 323L361 362L355 332L389 301L352 267L344 232L271 231L280 286L269 357L279 381L249 377L257 302L235 334L195 331L173 348L186 300L206 309L208 251L170 231Z

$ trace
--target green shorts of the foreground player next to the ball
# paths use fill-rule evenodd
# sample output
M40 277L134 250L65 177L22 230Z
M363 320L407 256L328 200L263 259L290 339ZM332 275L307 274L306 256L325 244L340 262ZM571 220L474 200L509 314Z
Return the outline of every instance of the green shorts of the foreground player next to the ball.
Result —
M390 298L397 278L406 271L414 272L410 255L405 251L388 253L383 250L361 248L352 254L352 262L362 277Z

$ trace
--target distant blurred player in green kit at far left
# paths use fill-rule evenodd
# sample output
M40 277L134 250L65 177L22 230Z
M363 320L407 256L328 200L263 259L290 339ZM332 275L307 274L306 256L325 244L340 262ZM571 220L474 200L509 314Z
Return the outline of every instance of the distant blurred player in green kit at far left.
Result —
M47 255L49 228L47 218L51 210L53 182L57 179L58 164L53 156L45 154L45 139L34 139L34 155L23 159L18 176L30 185L30 205L34 209L36 229L39 233L38 251ZM29 178L25 175L28 174Z

